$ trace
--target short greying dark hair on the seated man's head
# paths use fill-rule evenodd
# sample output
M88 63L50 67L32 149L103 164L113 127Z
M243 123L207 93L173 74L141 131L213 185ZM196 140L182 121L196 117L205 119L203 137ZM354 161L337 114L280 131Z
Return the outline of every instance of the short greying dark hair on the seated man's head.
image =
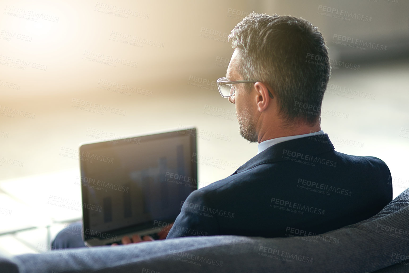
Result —
M317 27L302 18L253 12L234 27L228 40L239 52L238 73L273 88L288 124L317 122L330 77L327 48ZM319 62L308 56L319 56ZM252 86L246 84L246 89Z

